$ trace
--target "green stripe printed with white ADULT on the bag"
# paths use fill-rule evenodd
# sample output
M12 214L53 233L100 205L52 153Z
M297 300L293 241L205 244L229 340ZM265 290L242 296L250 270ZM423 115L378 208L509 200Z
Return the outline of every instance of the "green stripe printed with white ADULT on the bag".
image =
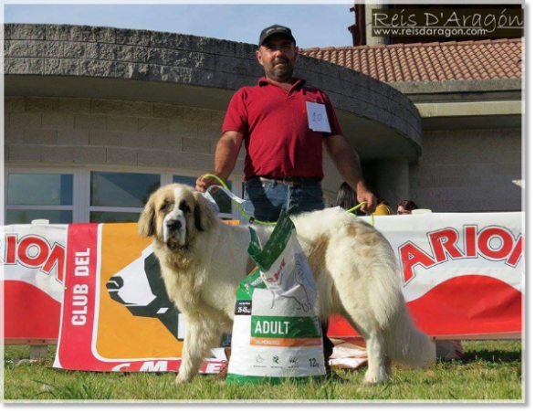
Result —
M251 317L251 337L316 338L321 336L319 317Z

